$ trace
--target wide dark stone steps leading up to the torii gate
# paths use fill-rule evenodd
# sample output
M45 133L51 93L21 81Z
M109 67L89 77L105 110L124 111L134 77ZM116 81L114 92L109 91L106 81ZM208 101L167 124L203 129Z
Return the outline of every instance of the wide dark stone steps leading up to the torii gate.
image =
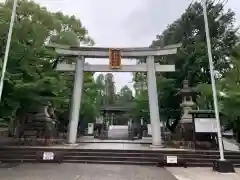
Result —
M95 163L95 164L133 164L155 166L166 156L177 156L187 167L212 167L219 159L218 151L190 150L121 150L121 149L77 149L47 147L1 147L0 161L10 162L48 162L41 161L39 154L53 152L62 163ZM239 152L225 152L225 158L235 167L240 167ZM55 162L58 162L55 161Z

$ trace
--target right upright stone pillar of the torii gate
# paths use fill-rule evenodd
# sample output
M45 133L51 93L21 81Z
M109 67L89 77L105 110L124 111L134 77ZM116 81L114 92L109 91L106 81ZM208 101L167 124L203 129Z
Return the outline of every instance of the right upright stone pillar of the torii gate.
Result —
M156 69L154 56L147 57L147 80L148 80L148 99L150 108L150 121L152 131L152 145L161 146L161 128L160 128L160 116L158 107L158 94L157 94L157 82L156 82Z

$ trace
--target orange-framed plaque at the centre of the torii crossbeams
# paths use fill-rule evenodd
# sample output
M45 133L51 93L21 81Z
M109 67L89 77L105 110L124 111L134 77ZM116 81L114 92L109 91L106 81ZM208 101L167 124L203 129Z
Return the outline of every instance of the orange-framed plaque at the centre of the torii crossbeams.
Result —
M119 69L121 67L121 50L109 49L109 65L112 69Z

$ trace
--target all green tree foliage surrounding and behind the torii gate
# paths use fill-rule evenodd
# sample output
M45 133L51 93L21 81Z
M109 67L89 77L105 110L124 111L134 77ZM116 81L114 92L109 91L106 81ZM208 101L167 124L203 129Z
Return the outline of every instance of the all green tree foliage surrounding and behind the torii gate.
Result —
M0 7L1 66L12 4L13 0L9 0ZM226 11L219 1L209 0L207 9L219 107L227 117L227 123L235 132L240 132L240 46L235 29L235 14L232 10ZM61 12L53 13L33 1L19 0L0 102L0 124L7 126L8 121L18 115L16 112L34 112L38 106L49 102L56 108L59 119L68 123L74 73L60 73L54 69L56 61L62 59L46 47L49 43L94 45L87 29L75 16L64 15ZM182 100L178 92L186 79L198 92L194 95L197 107L213 108L201 3L192 3L181 17L156 36L150 46L159 47L175 43L182 43L176 55L156 59L157 63L176 65L176 72L157 73L162 120L179 119ZM70 64L74 61L74 58L66 60ZM138 63L143 62L144 60L138 60ZM93 121L104 104L124 105L130 102L135 102L136 105L132 116L149 120L146 73L134 74L134 89L135 94L128 86L124 86L117 93L111 73L100 74L96 78L94 73L85 73L81 122Z

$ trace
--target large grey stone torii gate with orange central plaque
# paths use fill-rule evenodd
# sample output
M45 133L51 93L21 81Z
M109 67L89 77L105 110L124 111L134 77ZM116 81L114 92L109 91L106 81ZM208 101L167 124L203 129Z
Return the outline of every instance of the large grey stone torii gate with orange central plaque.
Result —
M161 129L158 106L156 72L173 72L175 65L155 64L155 56L176 54L181 44L169 45L163 48L98 48L98 47L73 47L51 45L57 54L66 57L77 57L76 64L59 63L57 71L75 71L74 88L72 93L69 144L75 144L79 121L79 110L84 81L84 72L147 72L148 97L150 107L150 121L152 125L152 145L161 146ZM85 63L85 58L110 58L109 65L90 65ZM122 65L121 58L137 59L146 58L145 64Z

